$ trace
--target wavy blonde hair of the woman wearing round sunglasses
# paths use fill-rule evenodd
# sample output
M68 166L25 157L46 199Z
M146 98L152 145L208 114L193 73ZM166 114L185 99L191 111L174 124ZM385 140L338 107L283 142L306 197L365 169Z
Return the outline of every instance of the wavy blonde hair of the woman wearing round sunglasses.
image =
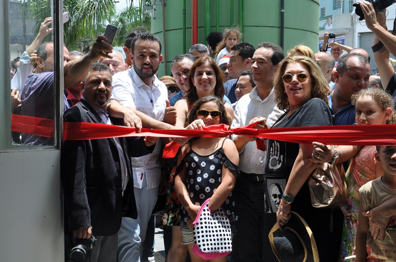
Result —
M328 103L327 96L330 94L329 83L324 78L318 64L307 56L290 56L281 61L274 78L275 102L278 108L280 110L290 110L289 99L285 92L282 76L285 74L286 67L292 63L301 64L308 69L307 75L311 77L312 86L311 98L320 98Z

